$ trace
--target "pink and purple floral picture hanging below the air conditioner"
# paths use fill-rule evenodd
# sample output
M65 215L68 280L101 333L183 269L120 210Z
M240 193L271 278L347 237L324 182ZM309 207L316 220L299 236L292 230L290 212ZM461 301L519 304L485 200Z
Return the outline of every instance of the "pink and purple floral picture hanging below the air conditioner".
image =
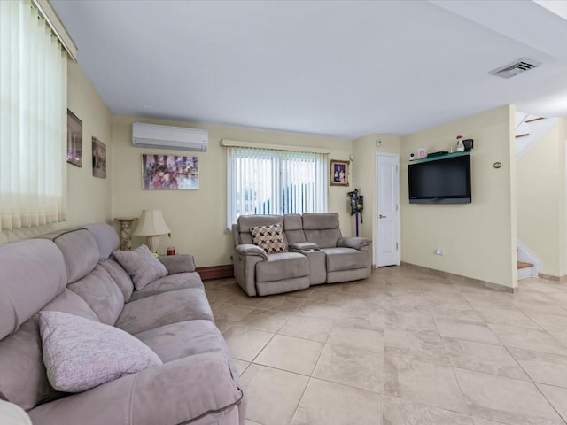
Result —
M175 155L142 155L146 190L198 189L198 158Z

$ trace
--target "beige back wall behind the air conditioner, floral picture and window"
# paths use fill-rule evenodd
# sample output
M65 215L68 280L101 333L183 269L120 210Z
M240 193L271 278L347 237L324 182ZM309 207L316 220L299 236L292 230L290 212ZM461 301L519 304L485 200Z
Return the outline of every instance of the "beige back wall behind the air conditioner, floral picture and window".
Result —
M132 146L132 123L150 122L180 127L206 128L209 132L209 148L205 153L191 151L164 151ZM347 140L331 139L311 135L276 133L246 128L202 126L186 122L147 120L136 117L113 117L113 217L139 216L144 209L161 209L171 238L161 236L159 251L168 245L175 246L178 253L195 255L198 267L230 264L232 239L227 233L227 175L226 148L221 139L245 142L285 144L293 146L320 147L331 150L330 159L348 160L353 144ZM143 190L142 154L160 153L198 157L198 190ZM352 174L351 174L352 181ZM341 230L352 235L352 220L348 213L346 193L353 188L331 186L329 188L329 211L340 213ZM136 237L133 245L144 243Z

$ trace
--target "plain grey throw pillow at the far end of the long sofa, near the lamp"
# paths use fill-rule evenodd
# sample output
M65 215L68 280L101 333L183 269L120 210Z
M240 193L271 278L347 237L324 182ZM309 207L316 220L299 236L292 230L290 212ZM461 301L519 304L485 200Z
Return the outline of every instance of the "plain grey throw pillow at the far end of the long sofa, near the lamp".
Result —
M167 276L167 268L145 245L138 246L134 251L114 251L113 256L132 276L136 290L141 290L148 283Z

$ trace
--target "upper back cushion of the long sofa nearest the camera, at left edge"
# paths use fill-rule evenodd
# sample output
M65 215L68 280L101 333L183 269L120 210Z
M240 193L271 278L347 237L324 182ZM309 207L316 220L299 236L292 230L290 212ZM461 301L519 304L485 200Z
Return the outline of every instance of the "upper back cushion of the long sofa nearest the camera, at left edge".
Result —
M54 243L31 239L0 245L0 339L63 292L66 282L65 260Z

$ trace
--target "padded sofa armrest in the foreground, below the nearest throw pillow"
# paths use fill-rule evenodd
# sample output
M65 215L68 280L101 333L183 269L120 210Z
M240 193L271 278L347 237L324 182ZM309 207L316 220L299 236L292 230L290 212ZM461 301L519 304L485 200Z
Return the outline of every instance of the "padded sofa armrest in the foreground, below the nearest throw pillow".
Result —
M243 399L237 382L226 354L209 352L122 376L28 413L42 425L176 425L234 408Z

